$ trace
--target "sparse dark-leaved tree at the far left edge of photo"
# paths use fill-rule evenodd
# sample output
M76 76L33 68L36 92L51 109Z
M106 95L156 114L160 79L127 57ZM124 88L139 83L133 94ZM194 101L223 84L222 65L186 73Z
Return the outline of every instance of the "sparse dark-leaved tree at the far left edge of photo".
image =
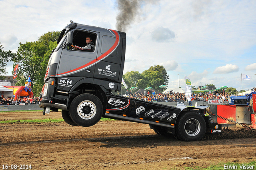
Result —
M5 78L3 74L8 74L6 71L7 63L9 62L10 58L13 58L16 54L9 51L2 50L4 47L0 42L0 78Z

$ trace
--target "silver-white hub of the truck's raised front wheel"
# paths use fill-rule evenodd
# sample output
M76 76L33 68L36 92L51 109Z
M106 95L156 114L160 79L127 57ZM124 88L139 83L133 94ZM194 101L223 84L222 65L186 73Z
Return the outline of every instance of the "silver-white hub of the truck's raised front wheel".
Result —
M89 120L96 114L96 106L92 101L84 100L77 107L77 113L80 118Z

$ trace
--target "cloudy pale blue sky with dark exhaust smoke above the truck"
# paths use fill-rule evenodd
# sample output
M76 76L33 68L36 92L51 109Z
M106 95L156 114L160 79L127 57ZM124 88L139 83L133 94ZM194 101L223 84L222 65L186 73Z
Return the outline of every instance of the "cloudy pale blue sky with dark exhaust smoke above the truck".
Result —
M126 32L124 74L162 65L168 88L185 89L186 75L196 88L248 90L256 87L255 9L255 0L0 0L0 42L17 52L72 20Z

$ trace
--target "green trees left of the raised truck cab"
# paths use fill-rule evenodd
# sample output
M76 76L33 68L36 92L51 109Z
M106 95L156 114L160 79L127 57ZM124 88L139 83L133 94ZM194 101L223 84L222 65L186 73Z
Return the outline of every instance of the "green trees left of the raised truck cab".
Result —
M18 74L16 86L24 86L30 76L31 89L35 96L39 96L44 85L44 75L46 72L49 55L52 49L56 48L60 32L48 32L34 42L20 43L17 53L4 51L0 43L0 78L4 78L6 66L9 61L13 61L13 69L18 64ZM10 74L10 73L8 73ZM12 71L13 75L13 71Z

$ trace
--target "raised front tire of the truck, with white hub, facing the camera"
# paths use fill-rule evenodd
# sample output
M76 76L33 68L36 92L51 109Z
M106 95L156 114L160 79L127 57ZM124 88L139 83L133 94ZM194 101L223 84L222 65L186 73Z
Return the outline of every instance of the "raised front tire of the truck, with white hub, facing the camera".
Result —
M69 114L75 124L88 127L100 120L103 106L98 97L92 94L80 94L71 102Z

